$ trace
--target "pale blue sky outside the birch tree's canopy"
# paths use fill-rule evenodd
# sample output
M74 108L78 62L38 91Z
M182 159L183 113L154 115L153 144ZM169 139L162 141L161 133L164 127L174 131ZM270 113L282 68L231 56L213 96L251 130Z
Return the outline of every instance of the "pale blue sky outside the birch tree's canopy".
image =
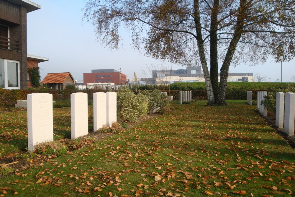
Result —
M49 58L49 61L39 64L41 79L47 73L71 72L75 80L83 80L83 73L92 69L122 69L129 78L141 77L142 69L147 66L165 64L173 70L184 69L180 65L171 64L140 55L131 46L129 33L123 37L123 48L109 51L104 44L96 41L94 27L82 21L83 0L32 0L41 9L27 14L27 53ZM283 82L288 82L295 75L295 60L283 62ZM256 66L231 67L230 72L253 72L266 76L266 80L281 81L281 64L271 59L266 64ZM145 77L145 76L142 76Z

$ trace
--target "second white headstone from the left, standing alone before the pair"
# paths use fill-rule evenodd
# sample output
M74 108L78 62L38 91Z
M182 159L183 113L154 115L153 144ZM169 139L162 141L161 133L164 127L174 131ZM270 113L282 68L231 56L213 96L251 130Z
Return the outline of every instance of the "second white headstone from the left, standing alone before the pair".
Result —
M71 94L71 137L76 139L88 134L87 94Z

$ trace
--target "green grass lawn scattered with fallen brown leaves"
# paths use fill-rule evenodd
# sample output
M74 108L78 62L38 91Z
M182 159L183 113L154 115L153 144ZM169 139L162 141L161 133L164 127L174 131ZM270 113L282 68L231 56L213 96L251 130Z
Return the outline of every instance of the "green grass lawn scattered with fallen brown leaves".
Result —
M0 178L0 192L7 196L294 195L295 152L256 114L255 106L240 100L228 101L227 107L205 104L172 102L176 110L170 113ZM60 113L54 124L56 139L69 136L69 112L69 108L54 110L55 115ZM24 147L25 118L26 112L1 114L2 147L7 143Z

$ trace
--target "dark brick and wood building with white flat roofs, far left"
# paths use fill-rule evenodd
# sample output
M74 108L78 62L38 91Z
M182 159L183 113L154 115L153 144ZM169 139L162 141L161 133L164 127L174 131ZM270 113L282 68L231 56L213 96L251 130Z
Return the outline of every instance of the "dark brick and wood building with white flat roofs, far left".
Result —
M44 60L27 55L27 13L40 8L27 0L0 0L1 88L27 89L27 63L36 66L36 62Z

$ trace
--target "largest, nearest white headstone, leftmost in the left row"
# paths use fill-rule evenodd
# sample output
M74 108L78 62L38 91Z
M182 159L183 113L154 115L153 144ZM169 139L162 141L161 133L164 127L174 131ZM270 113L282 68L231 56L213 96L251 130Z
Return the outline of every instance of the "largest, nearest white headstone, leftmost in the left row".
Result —
M27 95L28 150L41 142L53 140L52 94Z

